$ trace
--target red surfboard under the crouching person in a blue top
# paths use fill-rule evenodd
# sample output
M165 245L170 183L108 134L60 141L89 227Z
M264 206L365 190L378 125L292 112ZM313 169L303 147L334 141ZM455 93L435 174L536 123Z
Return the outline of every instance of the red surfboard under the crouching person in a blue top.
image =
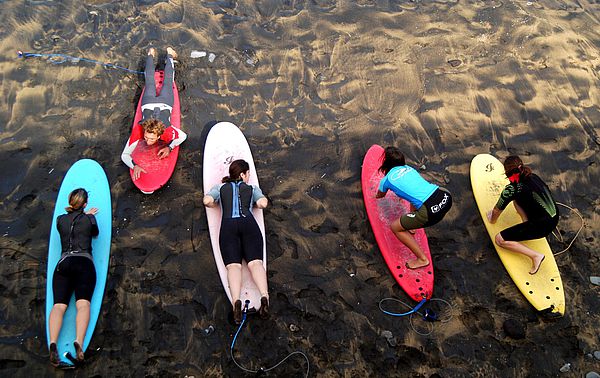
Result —
M414 236L431 263L423 268L408 269L405 264L413 260L415 255L396 238L390 224L409 212L410 204L392 191L388 191L384 198L375 198L379 182L384 176L378 172L382 154L383 147L375 144L369 148L363 160L361 183L367 216L383 259L400 287L417 302L423 297L430 299L433 293L433 260L425 230L416 230Z

